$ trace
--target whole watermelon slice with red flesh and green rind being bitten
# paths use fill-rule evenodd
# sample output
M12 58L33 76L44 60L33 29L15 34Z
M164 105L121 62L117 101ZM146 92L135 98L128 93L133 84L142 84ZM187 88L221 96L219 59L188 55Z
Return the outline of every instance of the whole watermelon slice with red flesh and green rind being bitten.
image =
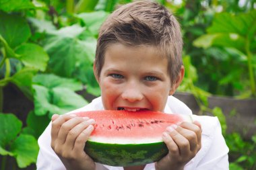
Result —
M168 153L162 141L166 127L192 122L191 116L151 111L100 110L77 115L96 121L84 151L97 163L121 167L159 161Z

